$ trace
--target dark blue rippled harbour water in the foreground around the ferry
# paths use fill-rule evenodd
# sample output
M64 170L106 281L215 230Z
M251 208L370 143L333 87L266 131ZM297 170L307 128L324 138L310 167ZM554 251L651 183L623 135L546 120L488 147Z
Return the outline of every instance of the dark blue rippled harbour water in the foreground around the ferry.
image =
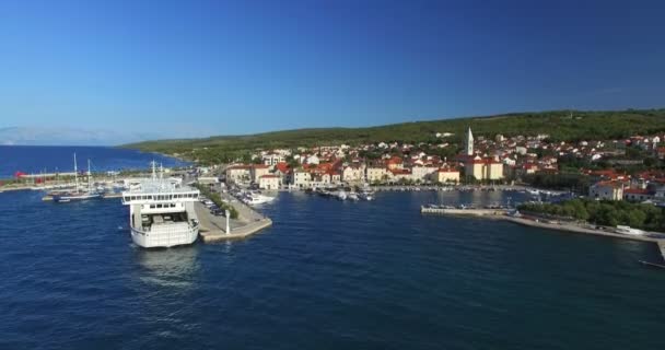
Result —
M460 196L460 197L458 197ZM118 200L0 194L1 349L655 349L651 244L423 217L501 194L282 192L248 240L142 250Z

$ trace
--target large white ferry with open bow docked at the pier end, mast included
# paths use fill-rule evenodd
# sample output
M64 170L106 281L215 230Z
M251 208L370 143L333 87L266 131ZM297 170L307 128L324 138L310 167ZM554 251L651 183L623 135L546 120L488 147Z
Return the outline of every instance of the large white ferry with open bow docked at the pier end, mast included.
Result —
M129 206L131 240L143 248L192 244L199 234L194 210L199 190L165 180L163 175L158 178L154 167L153 163L152 178L122 192L122 203Z

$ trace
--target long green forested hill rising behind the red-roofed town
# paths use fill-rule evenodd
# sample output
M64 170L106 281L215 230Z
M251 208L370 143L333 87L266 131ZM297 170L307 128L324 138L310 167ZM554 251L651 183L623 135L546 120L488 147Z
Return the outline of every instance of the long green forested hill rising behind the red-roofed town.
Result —
M434 140L436 132L452 132L454 136L448 139L450 142L458 142L469 126L472 128L474 135L491 138L497 133L506 137L547 133L551 140L557 141L615 139L665 131L665 109L516 113L487 117L402 122L368 128L298 129L247 136L158 140L124 147L186 155L192 149L202 148L215 149L219 152L240 152L257 148L357 144L381 141L422 142Z

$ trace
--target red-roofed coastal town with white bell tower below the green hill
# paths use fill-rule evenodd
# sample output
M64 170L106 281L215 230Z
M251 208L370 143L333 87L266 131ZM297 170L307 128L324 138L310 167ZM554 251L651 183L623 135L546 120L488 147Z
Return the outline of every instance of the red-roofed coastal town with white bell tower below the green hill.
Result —
M460 151L446 141L452 136L438 132L436 143L427 144L378 142L257 150L250 163L199 166L199 172L267 190L363 184L526 184L595 199L665 200L665 171L657 166L665 158L665 147L661 145L665 135L573 143L551 141L548 135L475 136L468 128ZM553 182L539 184L542 178ZM574 180L559 180L570 178Z

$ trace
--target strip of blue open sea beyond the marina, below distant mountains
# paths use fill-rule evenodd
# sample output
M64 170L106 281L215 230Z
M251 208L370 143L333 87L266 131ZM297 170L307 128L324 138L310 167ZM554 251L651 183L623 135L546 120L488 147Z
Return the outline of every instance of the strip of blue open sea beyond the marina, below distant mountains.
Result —
M88 168L90 160L93 172L148 168L153 160L166 167L187 165L155 153L116 148L0 145L0 178L13 177L16 172L73 172L74 153L79 168Z

